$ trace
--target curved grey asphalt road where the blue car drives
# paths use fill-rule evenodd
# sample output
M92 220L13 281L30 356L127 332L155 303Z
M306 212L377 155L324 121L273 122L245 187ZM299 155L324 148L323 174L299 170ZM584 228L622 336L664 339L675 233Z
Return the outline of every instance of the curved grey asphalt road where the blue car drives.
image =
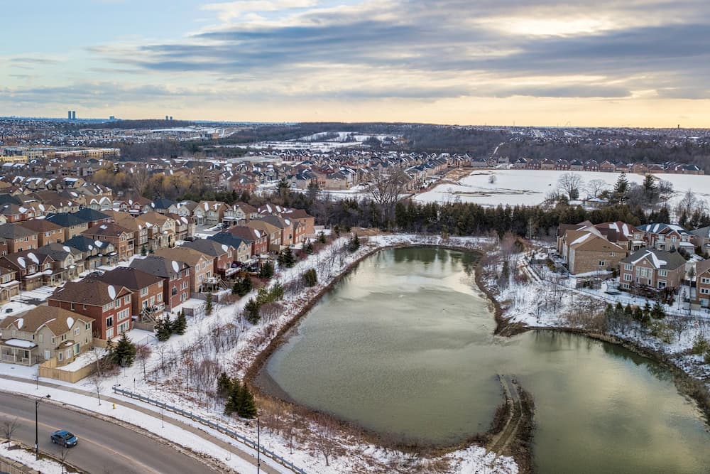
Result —
M35 401L0 392L0 421L18 419L13 439L35 446ZM40 453L60 458L60 447L50 433L67 429L79 438L70 448L67 463L91 474L123 473L214 473L199 460L119 424L94 418L53 403L39 405Z

